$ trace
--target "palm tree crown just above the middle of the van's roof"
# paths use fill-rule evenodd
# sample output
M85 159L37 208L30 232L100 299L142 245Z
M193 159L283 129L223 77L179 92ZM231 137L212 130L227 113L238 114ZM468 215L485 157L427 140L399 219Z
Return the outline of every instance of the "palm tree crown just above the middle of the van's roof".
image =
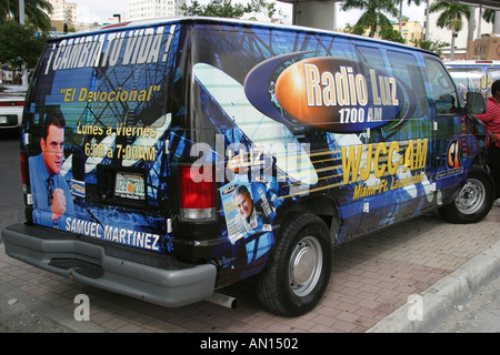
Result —
M397 17L398 9L396 8L394 0L346 0L341 7L342 11L351 9L366 10L359 18L354 27L362 26L363 28L370 28L369 37L374 37L377 26L390 24L389 19L382 13L382 11L389 12L389 14Z

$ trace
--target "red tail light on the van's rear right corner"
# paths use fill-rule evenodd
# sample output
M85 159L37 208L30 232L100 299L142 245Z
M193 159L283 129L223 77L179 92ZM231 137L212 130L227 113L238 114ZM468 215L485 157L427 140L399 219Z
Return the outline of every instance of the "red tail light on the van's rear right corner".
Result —
M210 168L213 168L210 165ZM180 220L209 222L216 220L217 199L213 169L182 165L179 169ZM209 180L209 181L207 181Z

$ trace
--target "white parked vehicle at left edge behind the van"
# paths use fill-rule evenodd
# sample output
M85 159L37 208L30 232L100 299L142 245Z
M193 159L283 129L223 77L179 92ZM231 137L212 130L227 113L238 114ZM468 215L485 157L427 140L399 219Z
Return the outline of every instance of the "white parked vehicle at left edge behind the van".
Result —
M0 84L0 130L21 126L27 87Z

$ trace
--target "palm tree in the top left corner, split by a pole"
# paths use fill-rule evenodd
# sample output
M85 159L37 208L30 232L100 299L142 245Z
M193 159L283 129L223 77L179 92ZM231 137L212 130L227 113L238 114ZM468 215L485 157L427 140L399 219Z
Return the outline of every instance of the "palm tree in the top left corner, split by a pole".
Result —
M52 12L52 6L47 0L24 0L26 20L34 27L50 30L50 18L47 12ZM0 0L0 22L13 17L19 22L19 0Z

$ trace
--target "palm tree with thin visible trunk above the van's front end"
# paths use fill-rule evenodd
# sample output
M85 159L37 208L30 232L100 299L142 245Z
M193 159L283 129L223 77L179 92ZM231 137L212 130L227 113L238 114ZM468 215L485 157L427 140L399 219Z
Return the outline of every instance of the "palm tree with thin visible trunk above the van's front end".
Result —
M434 1L429 8L429 12L441 12L436 24L439 28L447 28L451 31L450 60L454 59L454 38L463 27L462 17L469 21L470 8L467 4L454 2Z

